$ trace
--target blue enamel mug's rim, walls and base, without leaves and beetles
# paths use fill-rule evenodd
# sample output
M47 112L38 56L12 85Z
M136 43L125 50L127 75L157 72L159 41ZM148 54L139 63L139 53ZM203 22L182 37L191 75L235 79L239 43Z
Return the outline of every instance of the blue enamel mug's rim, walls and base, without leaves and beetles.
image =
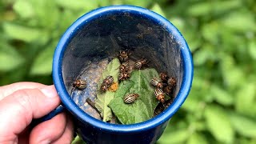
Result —
M174 102L146 122L102 122L70 96L70 79L78 78L90 62L114 57L119 50L130 50L134 58L148 59L159 73L177 78ZM193 62L186 40L166 18L137 6L107 6L78 18L63 34L54 53L53 78L86 143L155 143L190 92Z

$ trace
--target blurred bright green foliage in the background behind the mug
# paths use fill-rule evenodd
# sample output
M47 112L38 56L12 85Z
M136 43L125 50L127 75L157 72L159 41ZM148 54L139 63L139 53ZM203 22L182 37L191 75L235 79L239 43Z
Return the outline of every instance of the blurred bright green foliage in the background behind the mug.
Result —
M66 28L100 6L131 4L162 14L186 38L194 82L158 143L256 143L256 1L0 1L0 86L51 84L54 48Z

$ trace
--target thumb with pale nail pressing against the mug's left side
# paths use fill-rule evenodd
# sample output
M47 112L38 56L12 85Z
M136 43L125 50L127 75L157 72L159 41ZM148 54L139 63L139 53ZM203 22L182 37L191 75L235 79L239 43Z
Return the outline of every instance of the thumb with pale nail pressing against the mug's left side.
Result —
M41 118L59 104L54 86L17 90L3 98L0 101L0 139L4 135L17 138L33 118Z

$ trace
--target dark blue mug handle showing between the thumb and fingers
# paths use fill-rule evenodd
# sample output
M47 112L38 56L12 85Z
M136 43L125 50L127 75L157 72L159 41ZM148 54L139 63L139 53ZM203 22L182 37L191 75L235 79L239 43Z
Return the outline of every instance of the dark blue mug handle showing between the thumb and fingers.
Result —
M51 111L49 114L46 114L42 118L33 119L33 121L31 122L31 126L33 127L37 126L41 122L45 122L47 120L50 120L51 118L54 118L55 115L60 114L64 109L65 109L64 106L62 105L58 106L56 109Z

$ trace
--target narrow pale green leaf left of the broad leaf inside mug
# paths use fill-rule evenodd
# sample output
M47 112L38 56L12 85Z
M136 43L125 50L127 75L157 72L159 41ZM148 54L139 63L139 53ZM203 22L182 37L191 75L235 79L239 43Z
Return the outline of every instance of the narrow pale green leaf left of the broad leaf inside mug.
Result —
M102 73L102 77L98 81L98 90L97 90L97 99L95 100L96 108L101 112L103 122L110 121L112 118L112 112L108 107L110 101L114 98L114 92L106 91L102 92L100 87L102 85L102 81L106 76L111 75L114 78L114 82L118 81L118 67L120 66L120 62L118 58L114 58L107 66L106 69Z

